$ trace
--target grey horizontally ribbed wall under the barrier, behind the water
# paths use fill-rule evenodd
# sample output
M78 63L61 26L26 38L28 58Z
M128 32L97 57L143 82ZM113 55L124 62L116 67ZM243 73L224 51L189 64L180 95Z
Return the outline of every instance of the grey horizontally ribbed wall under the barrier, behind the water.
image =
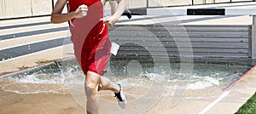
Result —
M118 56L120 58L157 56L161 59L161 55L167 52L170 60L177 62L181 57L191 58L188 48L192 48L192 58L195 62L250 65L251 26L169 27L167 29L171 31L170 33L161 26L115 26L109 29L109 36L112 42L121 45ZM151 55L142 53L139 50L142 48L132 43L147 48ZM162 43L164 47L159 46L158 43ZM177 43L181 44L181 47L177 48ZM182 54L185 56L181 56Z

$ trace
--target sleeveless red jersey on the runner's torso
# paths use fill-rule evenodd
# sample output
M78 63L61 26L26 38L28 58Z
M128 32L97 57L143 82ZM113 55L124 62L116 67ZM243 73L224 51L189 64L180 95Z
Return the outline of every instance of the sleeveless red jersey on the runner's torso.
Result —
M101 20L103 18L101 0L69 0L69 12L75 11L83 4L88 7L87 15L84 18L73 19L69 22L73 37L88 38L96 37L100 34L103 34L103 36L108 34L108 31L104 31L104 27L108 26L104 26Z

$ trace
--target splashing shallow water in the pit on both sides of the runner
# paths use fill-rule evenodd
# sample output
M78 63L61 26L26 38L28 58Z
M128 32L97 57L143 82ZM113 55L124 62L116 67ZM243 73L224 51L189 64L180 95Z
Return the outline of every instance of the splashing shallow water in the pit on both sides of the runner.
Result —
M240 77L249 67L201 64L194 66L192 76L178 72L178 69L178 65L173 64L171 65L171 70L163 67L163 71L169 71L167 74L141 72L137 77L114 77L110 79L115 83L122 83L126 89L126 94L141 96L142 94L133 93L131 91L141 88L150 88L152 81L161 82L165 79L168 80L166 85L167 91L183 89L178 87L176 83L186 84L186 89L188 90L205 90L208 88L221 89ZM84 74L77 65L67 67L65 70L62 69L62 71L60 69L41 69L31 72L32 71L27 71L19 75L0 77L0 88L4 91L17 94L68 94L69 91L67 87L79 89L79 91L84 90Z

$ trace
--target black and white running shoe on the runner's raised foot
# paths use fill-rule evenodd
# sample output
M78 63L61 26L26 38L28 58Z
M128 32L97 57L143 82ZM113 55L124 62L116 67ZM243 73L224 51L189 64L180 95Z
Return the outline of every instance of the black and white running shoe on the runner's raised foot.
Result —
M118 100L119 102L119 106L122 108L122 109L125 109L126 107L126 98L125 98L125 94L123 94L123 88L120 84L119 85L119 93L114 93L114 97L116 97L116 99Z

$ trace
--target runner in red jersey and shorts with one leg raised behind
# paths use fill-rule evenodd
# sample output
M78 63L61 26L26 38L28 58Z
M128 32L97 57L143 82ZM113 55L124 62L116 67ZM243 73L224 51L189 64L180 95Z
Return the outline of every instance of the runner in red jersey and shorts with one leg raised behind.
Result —
M69 23L74 54L84 71L84 91L87 98L88 114L98 113L97 91L111 90L121 108L126 107L126 99L120 84L111 82L104 75L108 64L111 43L108 39L108 26L113 26L127 7L126 0L115 0L116 12L103 18L101 0L58 0L51 14L52 23ZM68 3L68 13L62 10ZM106 25L106 26L105 26Z

